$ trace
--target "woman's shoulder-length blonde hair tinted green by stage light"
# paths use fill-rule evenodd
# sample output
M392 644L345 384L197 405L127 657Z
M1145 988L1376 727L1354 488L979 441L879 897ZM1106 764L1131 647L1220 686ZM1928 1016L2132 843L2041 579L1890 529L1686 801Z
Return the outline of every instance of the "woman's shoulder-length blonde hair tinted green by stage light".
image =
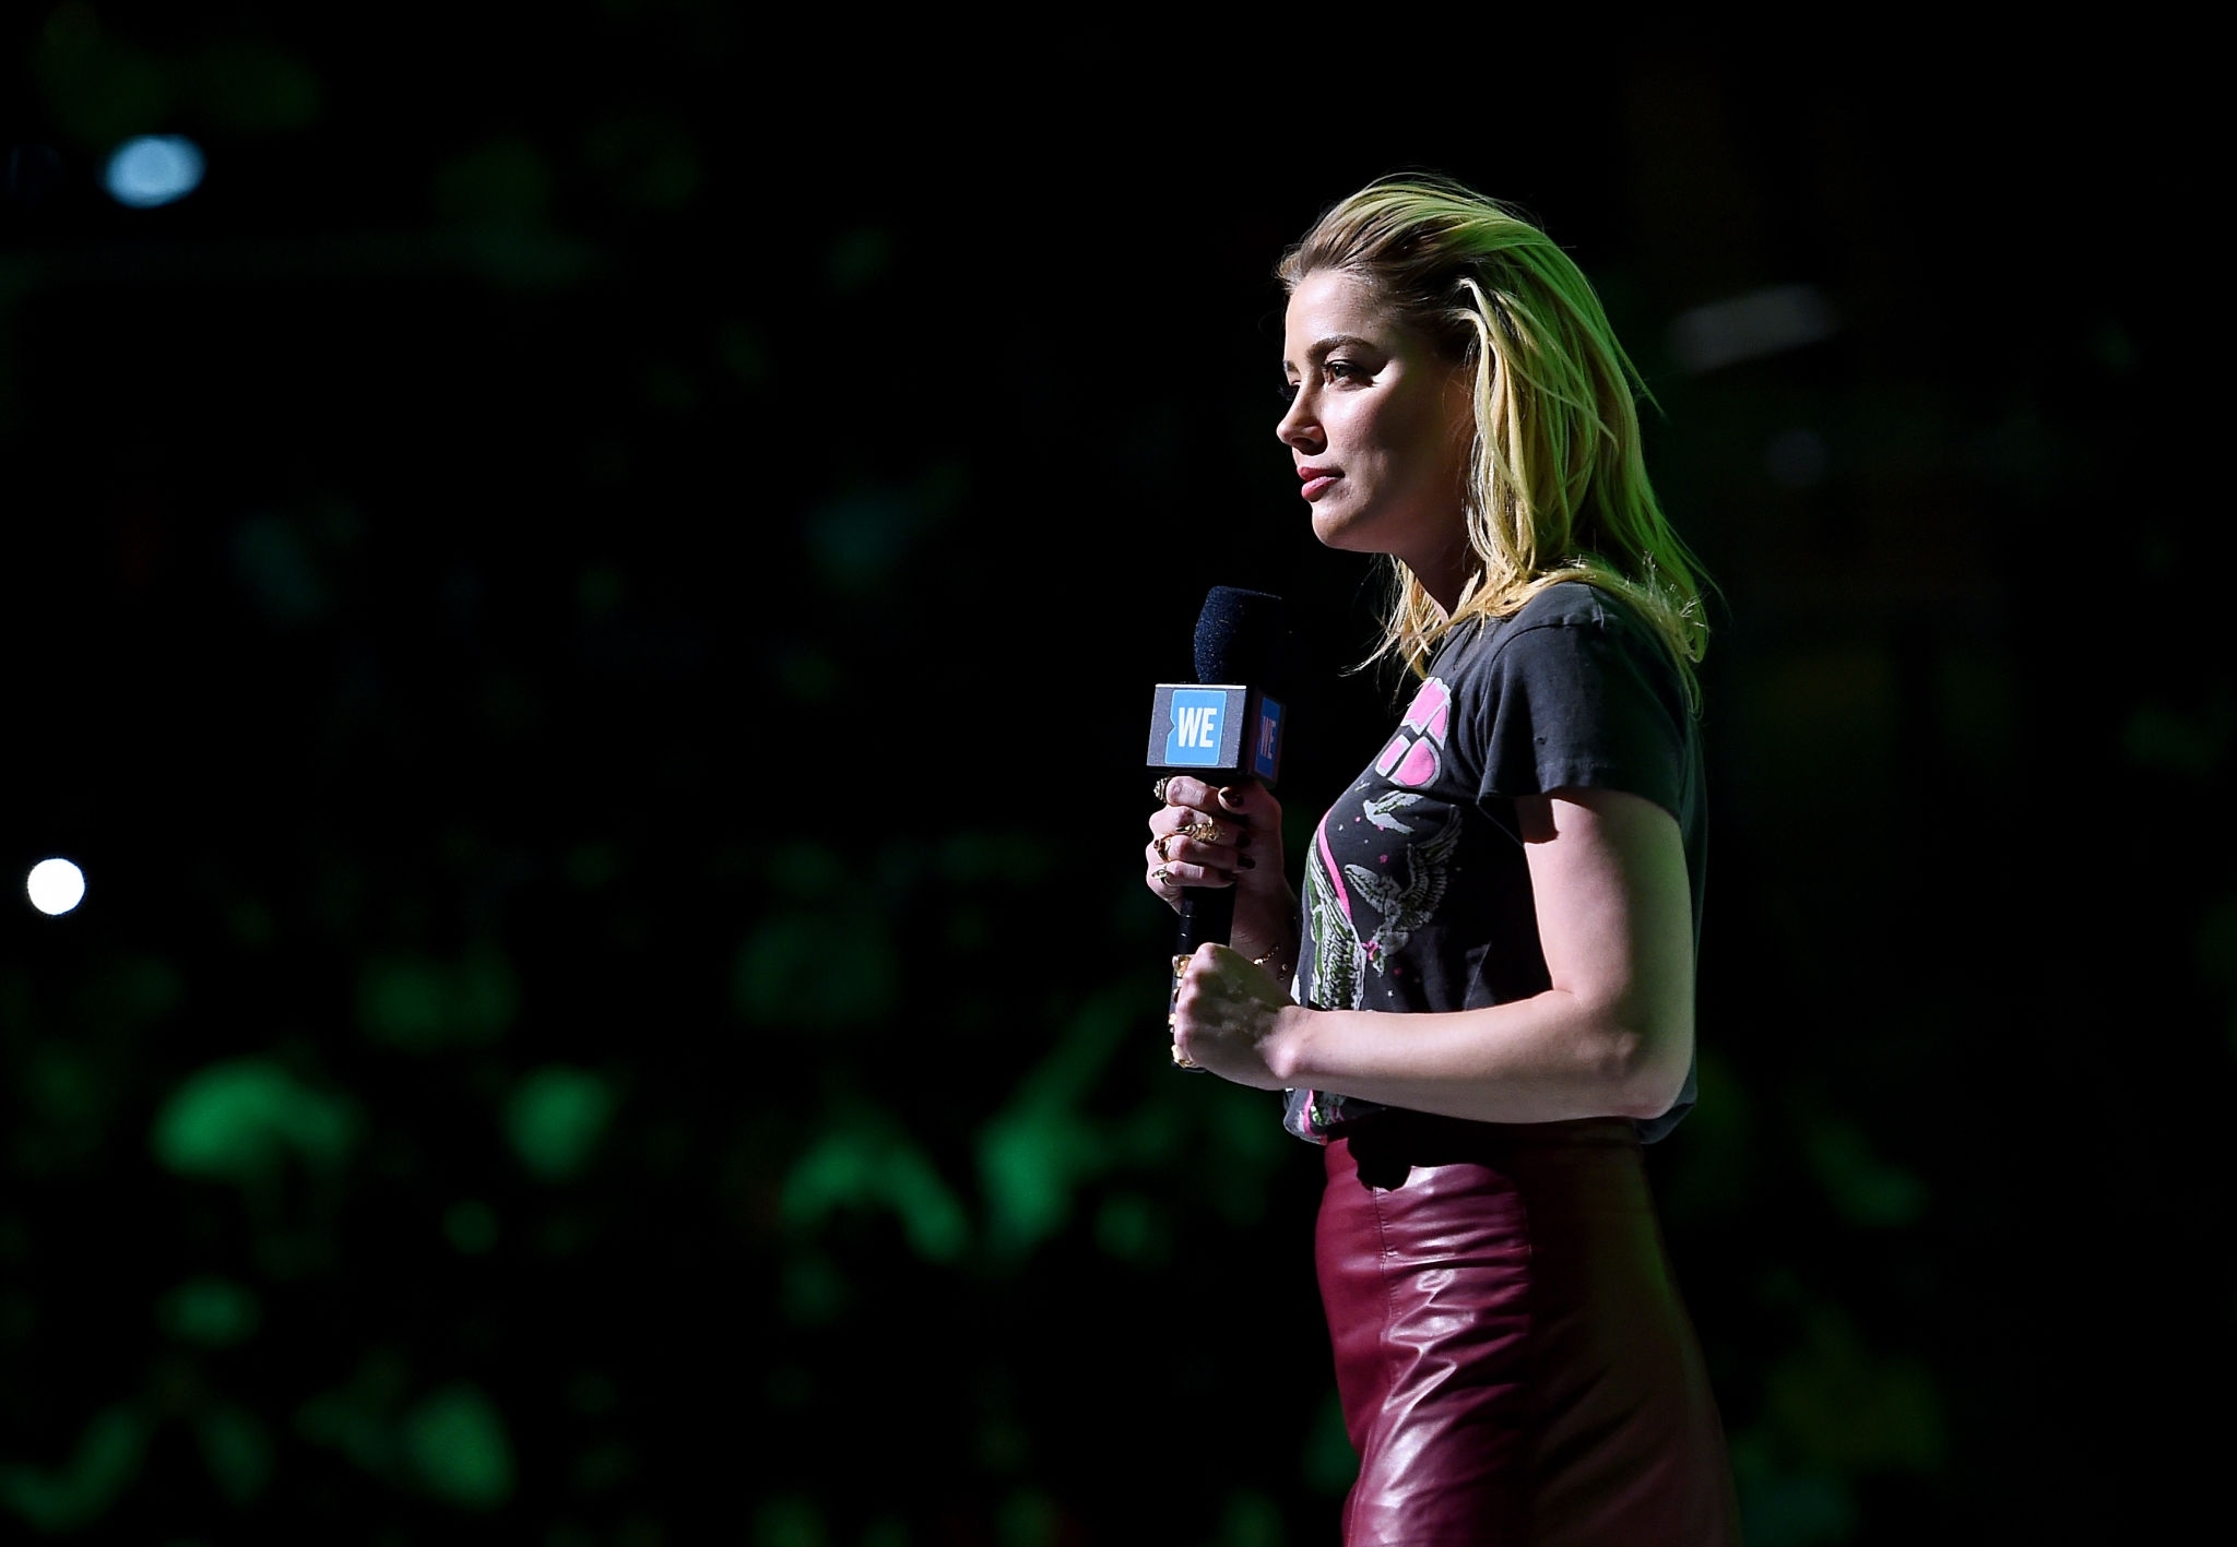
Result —
M1584 271L1512 208L1441 177L1389 177L1331 206L1275 268L1284 291L1335 268L1474 367L1465 490L1476 575L1447 617L1414 572L1382 644L1427 673L1461 621L1512 617L1557 581L1631 601L1669 644L1689 702L1709 626L1700 563L1646 481L1635 396L1653 396Z

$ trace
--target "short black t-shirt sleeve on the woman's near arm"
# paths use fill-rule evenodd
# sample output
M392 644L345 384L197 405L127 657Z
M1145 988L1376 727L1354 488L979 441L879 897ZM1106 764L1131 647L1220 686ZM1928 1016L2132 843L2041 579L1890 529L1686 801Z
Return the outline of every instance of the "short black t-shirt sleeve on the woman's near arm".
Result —
M1481 769L1476 798L1622 789L1684 823L1687 709L1669 651L1591 588L1552 590L1584 595L1541 592L1485 639L1476 702L1488 713L1467 727L1483 738L1467 749Z

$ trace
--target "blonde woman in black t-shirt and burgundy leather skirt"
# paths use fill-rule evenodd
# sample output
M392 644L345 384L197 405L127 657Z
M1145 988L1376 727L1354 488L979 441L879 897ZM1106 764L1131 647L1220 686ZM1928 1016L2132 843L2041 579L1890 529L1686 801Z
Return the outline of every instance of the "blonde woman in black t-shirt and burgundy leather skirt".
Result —
M1275 434L1313 534L1387 559L1420 684L1302 901L1259 785L1163 780L1145 858L1168 903L1235 890L1174 1062L1324 1145L1344 1543L1729 1543L1640 1162L1693 1102L1705 628L1637 376L1577 266L1441 179L1333 206L1280 277Z

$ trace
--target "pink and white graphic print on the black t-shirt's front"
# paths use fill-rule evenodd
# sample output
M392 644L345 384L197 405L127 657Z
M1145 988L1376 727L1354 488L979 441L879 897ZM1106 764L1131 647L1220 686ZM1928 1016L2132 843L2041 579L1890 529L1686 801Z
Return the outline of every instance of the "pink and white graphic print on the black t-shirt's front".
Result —
M1347 823L1351 832L1340 829L1340 834L1344 850L1358 858L1338 861L1331 843L1329 823L1344 816L1344 800L1331 807L1313 832L1306 908L1313 914L1318 1004L1362 1008L1367 968L1376 975L1387 972L1391 957L1436 914L1445 896L1452 854L1461 843L1459 814L1441 803L1418 812L1414 807L1423 800L1416 791L1445 767L1450 709L1452 691L1436 677L1423 682L1398 722L1398 733L1376 758L1374 769L1351 787L1358 816ZM1441 814L1443 820L1423 834L1420 818L1429 814ZM1407 820L1409 816L1414 820ZM1371 917L1362 917L1353 899L1367 903Z

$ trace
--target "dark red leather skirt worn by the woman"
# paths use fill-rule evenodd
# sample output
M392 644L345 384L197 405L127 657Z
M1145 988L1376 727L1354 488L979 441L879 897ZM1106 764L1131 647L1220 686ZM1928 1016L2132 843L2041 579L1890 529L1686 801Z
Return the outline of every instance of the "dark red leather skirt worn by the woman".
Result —
M1727 1547L1731 1467L1622 1118L1378 1113L1315 1254L1360 1475L1344 1547Z

